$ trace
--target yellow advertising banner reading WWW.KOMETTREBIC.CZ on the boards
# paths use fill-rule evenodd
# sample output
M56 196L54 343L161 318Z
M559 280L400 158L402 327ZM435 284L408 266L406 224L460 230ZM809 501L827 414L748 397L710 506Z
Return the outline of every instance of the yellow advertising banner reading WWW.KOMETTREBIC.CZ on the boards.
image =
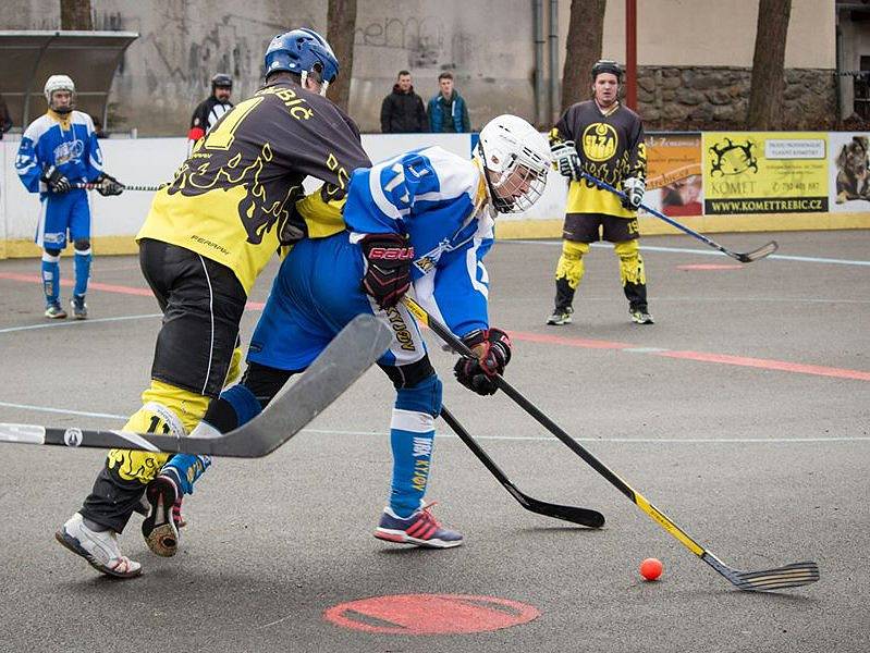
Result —
M828 134L707 132L704 213L828 211Z

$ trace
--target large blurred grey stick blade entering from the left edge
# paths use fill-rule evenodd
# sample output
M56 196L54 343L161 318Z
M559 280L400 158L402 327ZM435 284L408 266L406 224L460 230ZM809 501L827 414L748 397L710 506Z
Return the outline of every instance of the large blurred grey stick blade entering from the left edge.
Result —
M293 438L347 390L384 353L392 337L392 331L373 316L357 316L260 415L219 438L0 423L0 442L259 458Z

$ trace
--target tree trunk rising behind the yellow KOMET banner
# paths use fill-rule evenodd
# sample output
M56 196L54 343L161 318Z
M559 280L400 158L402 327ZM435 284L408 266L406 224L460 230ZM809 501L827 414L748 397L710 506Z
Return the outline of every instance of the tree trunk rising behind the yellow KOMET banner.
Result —
M758 5L756 53L749 89L750 130L776 130L782 125L785 78L785 38L792 0L761 0Z

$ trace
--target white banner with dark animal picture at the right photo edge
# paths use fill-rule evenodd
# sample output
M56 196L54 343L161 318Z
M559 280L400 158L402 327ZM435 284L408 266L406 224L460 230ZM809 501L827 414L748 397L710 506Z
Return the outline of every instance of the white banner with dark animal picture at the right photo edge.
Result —
M832 132L829 138L831 211L870 211L870 133Z

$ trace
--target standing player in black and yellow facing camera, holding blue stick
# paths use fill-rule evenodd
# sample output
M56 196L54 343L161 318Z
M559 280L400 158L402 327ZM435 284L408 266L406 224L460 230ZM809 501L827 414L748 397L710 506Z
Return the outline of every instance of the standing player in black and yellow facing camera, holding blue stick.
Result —
M592 66L593 98L571 106L550 133L553 160L569 177L562 255L555 272L555 308L548 324L567 324L574 293L584 275L583 258L590 243L613 243L632 320L652 324L647 306L647 278L640 257L637 209L644 199L647 153L640 118L618 100L622 70L615 61ZM580 174L623 190L625 200Z

